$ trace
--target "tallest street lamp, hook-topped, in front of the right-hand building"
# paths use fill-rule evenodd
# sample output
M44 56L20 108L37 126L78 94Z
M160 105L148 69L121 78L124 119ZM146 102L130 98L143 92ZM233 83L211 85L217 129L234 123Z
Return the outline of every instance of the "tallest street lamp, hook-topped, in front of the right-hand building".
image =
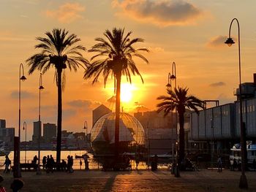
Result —
M227 38L225 44L229 47L233 45L235 42L230 37L230 31L233 21L236 20L238 24L238 58L239 58L239 112L240 112L240 131L241 131L241 177L239 182L239 188L248 188L247 179L245 175L245 150L246 150L246 141L245 141L245 130L244 130L244 122L243 122L243 104L242 104L242 88L241 88L241 53L240 53L240 26L237 18L233 18L230 23L229 37Z

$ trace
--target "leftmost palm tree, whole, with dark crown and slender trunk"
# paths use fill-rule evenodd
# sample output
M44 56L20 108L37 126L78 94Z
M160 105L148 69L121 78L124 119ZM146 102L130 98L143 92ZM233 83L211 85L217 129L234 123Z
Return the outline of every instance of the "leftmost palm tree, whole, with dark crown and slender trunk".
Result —
M48 71L50 67L56 69L56 85L58 87L58 120L57 120L57 147L56 161L61 160L61 121L62 121L62 89L64 88L65 75L64 69L67 67L75 72L81 66L86 69L89 62L83 58L81 51L86 48L77 45L80 39L75 34L69 34L69 31L61 28L53 28L53 31L47 31L46 37L37 37L38 44L35 48L41 50L40 53L32 55L26 60L29 65L29 74L38 69L42 74Z

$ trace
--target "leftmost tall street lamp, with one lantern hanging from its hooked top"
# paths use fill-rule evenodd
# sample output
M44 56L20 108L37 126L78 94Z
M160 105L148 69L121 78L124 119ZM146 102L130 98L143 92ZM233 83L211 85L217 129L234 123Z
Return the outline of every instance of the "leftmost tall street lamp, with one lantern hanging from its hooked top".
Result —
M22 72L22 75L21 73ZM18 154L17 154L17 165L16 165L16 172L15 172L15 177L21 177L21 172L20 172L20 96L21 96L21 91L20 91L20 87L21 87L21 81L26 80L26 77L24 76L24 68L23 68L23 64L20 64L20 70L19 70L19 122L18 122Z

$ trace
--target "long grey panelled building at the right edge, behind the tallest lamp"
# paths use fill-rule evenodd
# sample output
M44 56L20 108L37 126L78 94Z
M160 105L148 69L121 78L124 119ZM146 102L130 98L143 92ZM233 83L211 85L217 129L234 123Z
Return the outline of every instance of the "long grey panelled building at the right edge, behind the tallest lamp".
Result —
M217 153L229 153L230 147L240 142L240 96L243 99L243 121L246 128L246 140L256 143L256 74L254 82L244 82L234 93L237 101L200 110L190 116L189 147L210 149L213 145ZM188 147L188 148L189 148Z

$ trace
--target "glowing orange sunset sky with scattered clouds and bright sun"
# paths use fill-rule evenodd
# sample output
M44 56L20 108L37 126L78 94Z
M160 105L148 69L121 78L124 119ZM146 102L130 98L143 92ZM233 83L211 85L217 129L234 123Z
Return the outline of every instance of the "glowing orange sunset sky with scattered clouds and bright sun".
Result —
M176 63L177 86L189 88L199 99L217 99L220 104L236 100L238 87L238 25L233 23L232 47L223 42L230 22L237 18L241 33L241 79L252 82L256 50L255 0L0 0L0 119L18 134L19 66L22 63L26 81L21 82L21 124L27 123L31 139L33 122L39 115L39 72L29 75L26 59L34 49L36 37L45 37L53 28L66 28L81 39L87 50L114 27L132 31L132 38L144 42L143 53L149 64L135 59L144 83L132 77L132 85L122 78L121 106L124 112L156 110L157 96L166 95L168 72ZM92 54L84 52L90 60ZM54 69L43 74L45 89L41 92L42 123L57 121L57 88ZM113 80L104 87L102 78L91 85L83 79L83 69L65 70L62 129L80 132L85 120L91 129L92 110L105 104L114 111L110 98ZM22 126L21 125L21 126ZM25 138L24 131L21 139Z

